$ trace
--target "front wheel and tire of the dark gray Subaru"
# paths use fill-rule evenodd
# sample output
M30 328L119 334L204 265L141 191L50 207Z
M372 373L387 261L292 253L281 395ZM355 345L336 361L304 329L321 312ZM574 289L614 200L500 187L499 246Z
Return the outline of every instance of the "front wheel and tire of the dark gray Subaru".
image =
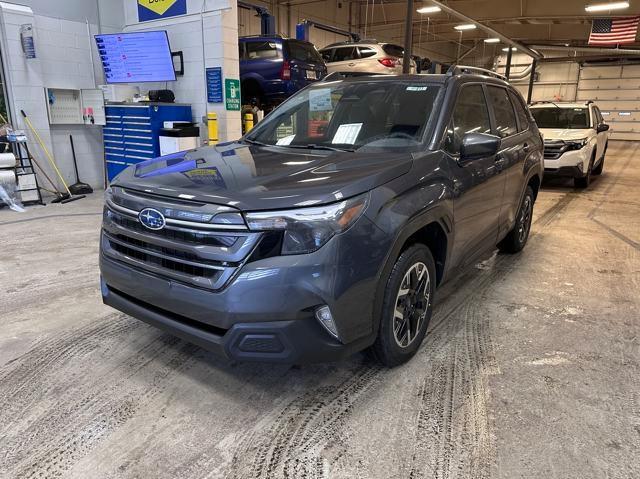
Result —
M407 362L424 339L433 312L436 268L429 248L416 244L396 260L384 291L378 337L371 347L386 367Z

